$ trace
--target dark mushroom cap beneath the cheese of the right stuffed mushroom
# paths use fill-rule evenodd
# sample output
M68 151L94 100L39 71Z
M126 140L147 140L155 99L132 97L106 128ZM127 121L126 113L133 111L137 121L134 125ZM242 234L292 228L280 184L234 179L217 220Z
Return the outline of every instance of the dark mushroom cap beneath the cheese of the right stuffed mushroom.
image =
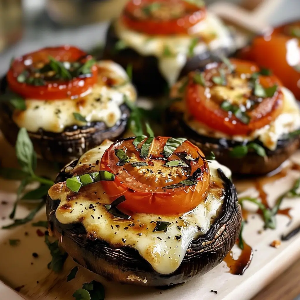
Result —
M242 158L232 157L230 152L236 146L243 145L242 142L216 139L199 135L186 125L183 119L183 112L169 109L166 113L166 131L173 136L183 136L202 149L205 155L214 152L216 160L230 168L233 174L263 175L269 173L286 161L300 145L299 136L278 140L277 148L271 151L265 148L266 157L248 152ZM262 145L258 140L255 143Z

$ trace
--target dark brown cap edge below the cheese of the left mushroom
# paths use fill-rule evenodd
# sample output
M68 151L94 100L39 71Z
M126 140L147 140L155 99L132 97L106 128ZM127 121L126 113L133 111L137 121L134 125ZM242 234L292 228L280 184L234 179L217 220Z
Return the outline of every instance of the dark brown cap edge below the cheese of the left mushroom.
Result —
M0 81L0 95L7 88L6 77ZM117 140L126 130L130 115L128 107L120 106L121 119L113 127L107 127L104 122L88 122L85 126L69 126L61 133L39 129L38 132L28 132L38 156L49 161L67 163L79 158L84 152L100 145L104 140ZM12 108L0 101L0 130L6 140L14 146L19 127L12 119Z

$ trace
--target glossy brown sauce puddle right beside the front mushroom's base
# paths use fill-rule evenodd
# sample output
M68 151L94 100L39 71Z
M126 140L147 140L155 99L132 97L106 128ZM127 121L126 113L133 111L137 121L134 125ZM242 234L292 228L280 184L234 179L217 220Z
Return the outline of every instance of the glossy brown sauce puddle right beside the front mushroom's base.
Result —
M243 275L249 267L250 262L252 261L252 257L252 248L244 241L244 249L242 250L238 259L233 259L232 250L224 258L223 261L226 262L226 265L229 268L229 271L227 271L226 273L230 273L233 275Z

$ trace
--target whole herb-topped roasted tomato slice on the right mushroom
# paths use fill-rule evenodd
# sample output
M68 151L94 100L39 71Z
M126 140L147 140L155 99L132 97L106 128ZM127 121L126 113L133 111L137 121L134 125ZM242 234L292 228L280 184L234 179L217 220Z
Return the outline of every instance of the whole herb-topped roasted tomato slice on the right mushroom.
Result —
M189 115L230 136L248 135L269 124L282 111L281 83L259 72L254 63L231 59L208 64L202 73L189 73Z

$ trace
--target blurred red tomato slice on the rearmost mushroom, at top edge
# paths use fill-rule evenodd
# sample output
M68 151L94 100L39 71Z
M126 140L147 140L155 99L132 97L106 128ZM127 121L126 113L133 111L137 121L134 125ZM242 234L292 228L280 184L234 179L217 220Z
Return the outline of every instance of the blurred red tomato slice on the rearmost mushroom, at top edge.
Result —
M187 34L190 27L204 19L201 0L141 0L129 1L122 14L125 26L149 35Z

